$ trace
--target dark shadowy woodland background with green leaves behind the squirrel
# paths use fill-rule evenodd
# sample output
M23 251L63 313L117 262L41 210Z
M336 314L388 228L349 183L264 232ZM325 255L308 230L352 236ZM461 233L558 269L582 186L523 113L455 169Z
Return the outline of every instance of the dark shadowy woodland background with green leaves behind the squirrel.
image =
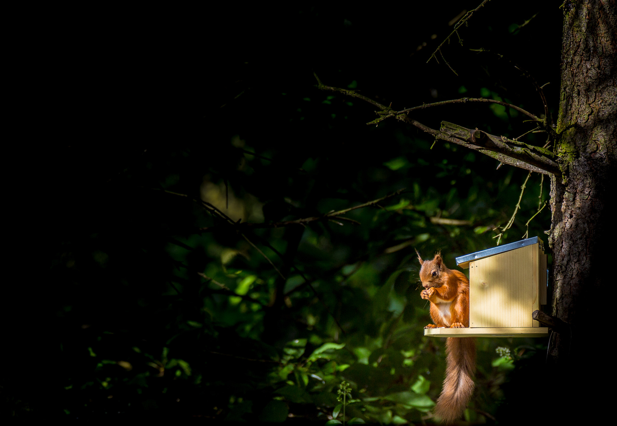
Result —
M494 246L492 229L507 223L528 173L441 141L431 149L430 137L394 120L366 126L373 107L318 90L313 72L396 109L482 96L539 115L516 68L470 51L484 48L550 82L556 115L559 4L490 2L460 31L462 46L453 36L443 49L458 75L441 56L426 63L449 21L476 2L83 12L54 27L40 41L49 72L36 99L56 118L22 179L36 194L35 236L5 299L4 414L324 424L346 380L348 419L430 422L444 342L423 336L430 319L413 248L441 250L455 268L456 256ZM507 137L533 128L499 105L415 118ZM543 145L545 134L524 140ZM532 174L502 243L521 239L548 187L540 194ZM192 200L273 223L402 188L347 214L361 224L244 231L285 279ZM545 208L529 236L546 241L549 227ZM521 388L546 343L479 339L466 420L525 416Z

